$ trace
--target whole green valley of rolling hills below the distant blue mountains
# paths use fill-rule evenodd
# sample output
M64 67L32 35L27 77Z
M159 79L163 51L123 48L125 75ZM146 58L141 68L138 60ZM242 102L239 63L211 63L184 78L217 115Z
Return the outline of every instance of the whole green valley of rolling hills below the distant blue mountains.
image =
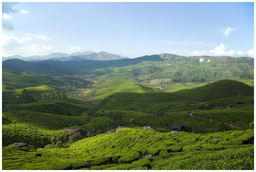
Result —
M2 62L4 170L254 169L253 58L89 57Z

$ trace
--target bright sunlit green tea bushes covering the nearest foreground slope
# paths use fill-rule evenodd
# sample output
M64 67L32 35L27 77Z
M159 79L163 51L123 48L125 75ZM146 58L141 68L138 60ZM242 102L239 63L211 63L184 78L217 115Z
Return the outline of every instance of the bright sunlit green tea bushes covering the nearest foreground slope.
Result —
M4 170L254 168L253 130L203 135L151 131L123 128L103 137L76 141L69 148L61 149L8 146L3 149L2 166ZM163 139L157 139L160 136ZM147 154L152 157L144 158Z

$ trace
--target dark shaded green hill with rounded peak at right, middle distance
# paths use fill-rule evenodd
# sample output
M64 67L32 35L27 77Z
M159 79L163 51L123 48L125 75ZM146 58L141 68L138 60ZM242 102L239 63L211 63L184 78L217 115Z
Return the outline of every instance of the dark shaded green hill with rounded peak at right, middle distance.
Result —
M225 85L223 85L225 83ZM234 83L236 85L234 85ZM214 88L214 89L213 89ZM221 91L219 91L220 89ZM171 109L182 110L187 104L197 104L211 100L234 96L252 96L253 87L232 80L217 81L195 89L186 89L172 93L129 93L116 92L105 99L100 107L106 109L122 109L158 113Z

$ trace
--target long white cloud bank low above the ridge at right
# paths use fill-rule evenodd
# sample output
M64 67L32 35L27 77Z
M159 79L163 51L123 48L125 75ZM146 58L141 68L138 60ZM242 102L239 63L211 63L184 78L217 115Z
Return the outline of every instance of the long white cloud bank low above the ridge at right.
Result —
M229 50L223 43L214 48L214 50L205 50L205 51L190 51L185 50L182 53L177 53L178 55L186 55L186 56L201 56L201 55L209 55L209 56L232 56L232 57L242 57L249 56L254 57L254 50L249 50L248 52L243 52L241 50Z

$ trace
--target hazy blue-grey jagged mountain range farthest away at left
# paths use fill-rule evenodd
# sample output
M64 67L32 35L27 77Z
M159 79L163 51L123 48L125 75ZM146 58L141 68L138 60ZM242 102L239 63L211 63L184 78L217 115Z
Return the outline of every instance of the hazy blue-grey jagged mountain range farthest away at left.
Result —
M93 51L84 51L84 52L76 52L71 54L66 53L51 53L49 55L32 55L29 57L23 57L20 55L13 55L4 57L2 56L2 61L8 60L8 59L20 59L23 61L43 61L43 60L59 60L59 61L80 61L80 60L101 60L101 61L107 61L107 60L117 60L117 59L125 59L128 57L123 57L122 55L118 54L110 54L108 52L99 52L95 53Z

